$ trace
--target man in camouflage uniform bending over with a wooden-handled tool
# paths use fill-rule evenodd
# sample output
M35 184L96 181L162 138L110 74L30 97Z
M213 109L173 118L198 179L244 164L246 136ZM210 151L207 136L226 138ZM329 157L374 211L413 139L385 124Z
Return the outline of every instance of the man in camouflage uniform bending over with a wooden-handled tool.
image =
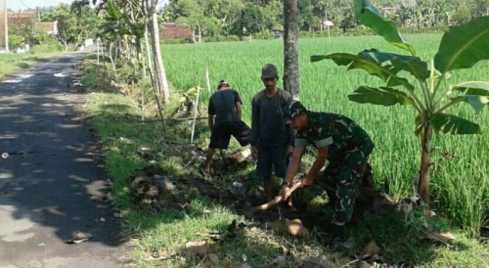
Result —
M295 150L292 162L286 172L280 194L288 198L286 192L291 187L295 174L300 170L300 161L307 145L312 144L318 150L316 160L309 173L302 178L302 186L312 184L314 176L323 167L326 159L326 172L335 186L335 216L333 233L335 239L341 239L344 225L351 221L356 192L362 170L374 144L368 134L353 120L340 114L309 112L298 101L292 101L284 111L287 124L291 124L295 135Z

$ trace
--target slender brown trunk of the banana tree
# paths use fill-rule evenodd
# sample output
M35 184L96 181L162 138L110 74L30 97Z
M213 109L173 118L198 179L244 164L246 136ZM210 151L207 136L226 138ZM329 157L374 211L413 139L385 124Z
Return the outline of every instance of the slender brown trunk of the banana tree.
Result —
M421 135L421 169L419 172L418 195L425 204L430 205L430 167L431 167L431 136L433 127L427 123Z

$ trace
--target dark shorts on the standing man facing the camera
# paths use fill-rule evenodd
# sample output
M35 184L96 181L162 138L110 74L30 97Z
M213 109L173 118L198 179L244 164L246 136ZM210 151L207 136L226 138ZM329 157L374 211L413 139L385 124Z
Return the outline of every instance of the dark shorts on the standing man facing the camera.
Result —
M287 171L286 147L264 147L258 146L258 163L256 164L256 175L258 177L271 177L272 168L275 176L285 178Z

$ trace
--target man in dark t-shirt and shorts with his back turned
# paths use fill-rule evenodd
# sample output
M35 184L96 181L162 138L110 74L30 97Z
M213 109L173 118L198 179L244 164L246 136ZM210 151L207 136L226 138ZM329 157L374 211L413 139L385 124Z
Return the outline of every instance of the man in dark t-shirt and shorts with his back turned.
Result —
M212 156L215 149L228 149L233 135L241 146L249 144L251 130L241 121L241 98L238 91L231 89L226 80L217 85L217 92L209 99L209 127L211 130L210 145L205 159L205 172L210 172Z

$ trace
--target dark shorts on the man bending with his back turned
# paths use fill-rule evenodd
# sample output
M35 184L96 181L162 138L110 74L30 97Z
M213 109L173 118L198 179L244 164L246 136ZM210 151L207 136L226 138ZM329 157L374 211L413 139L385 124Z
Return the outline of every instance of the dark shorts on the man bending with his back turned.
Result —
M240 142L241 146L246 146L250 142L251 129L243 121L221 122L212 128L209 147L228 149L231 135Z

